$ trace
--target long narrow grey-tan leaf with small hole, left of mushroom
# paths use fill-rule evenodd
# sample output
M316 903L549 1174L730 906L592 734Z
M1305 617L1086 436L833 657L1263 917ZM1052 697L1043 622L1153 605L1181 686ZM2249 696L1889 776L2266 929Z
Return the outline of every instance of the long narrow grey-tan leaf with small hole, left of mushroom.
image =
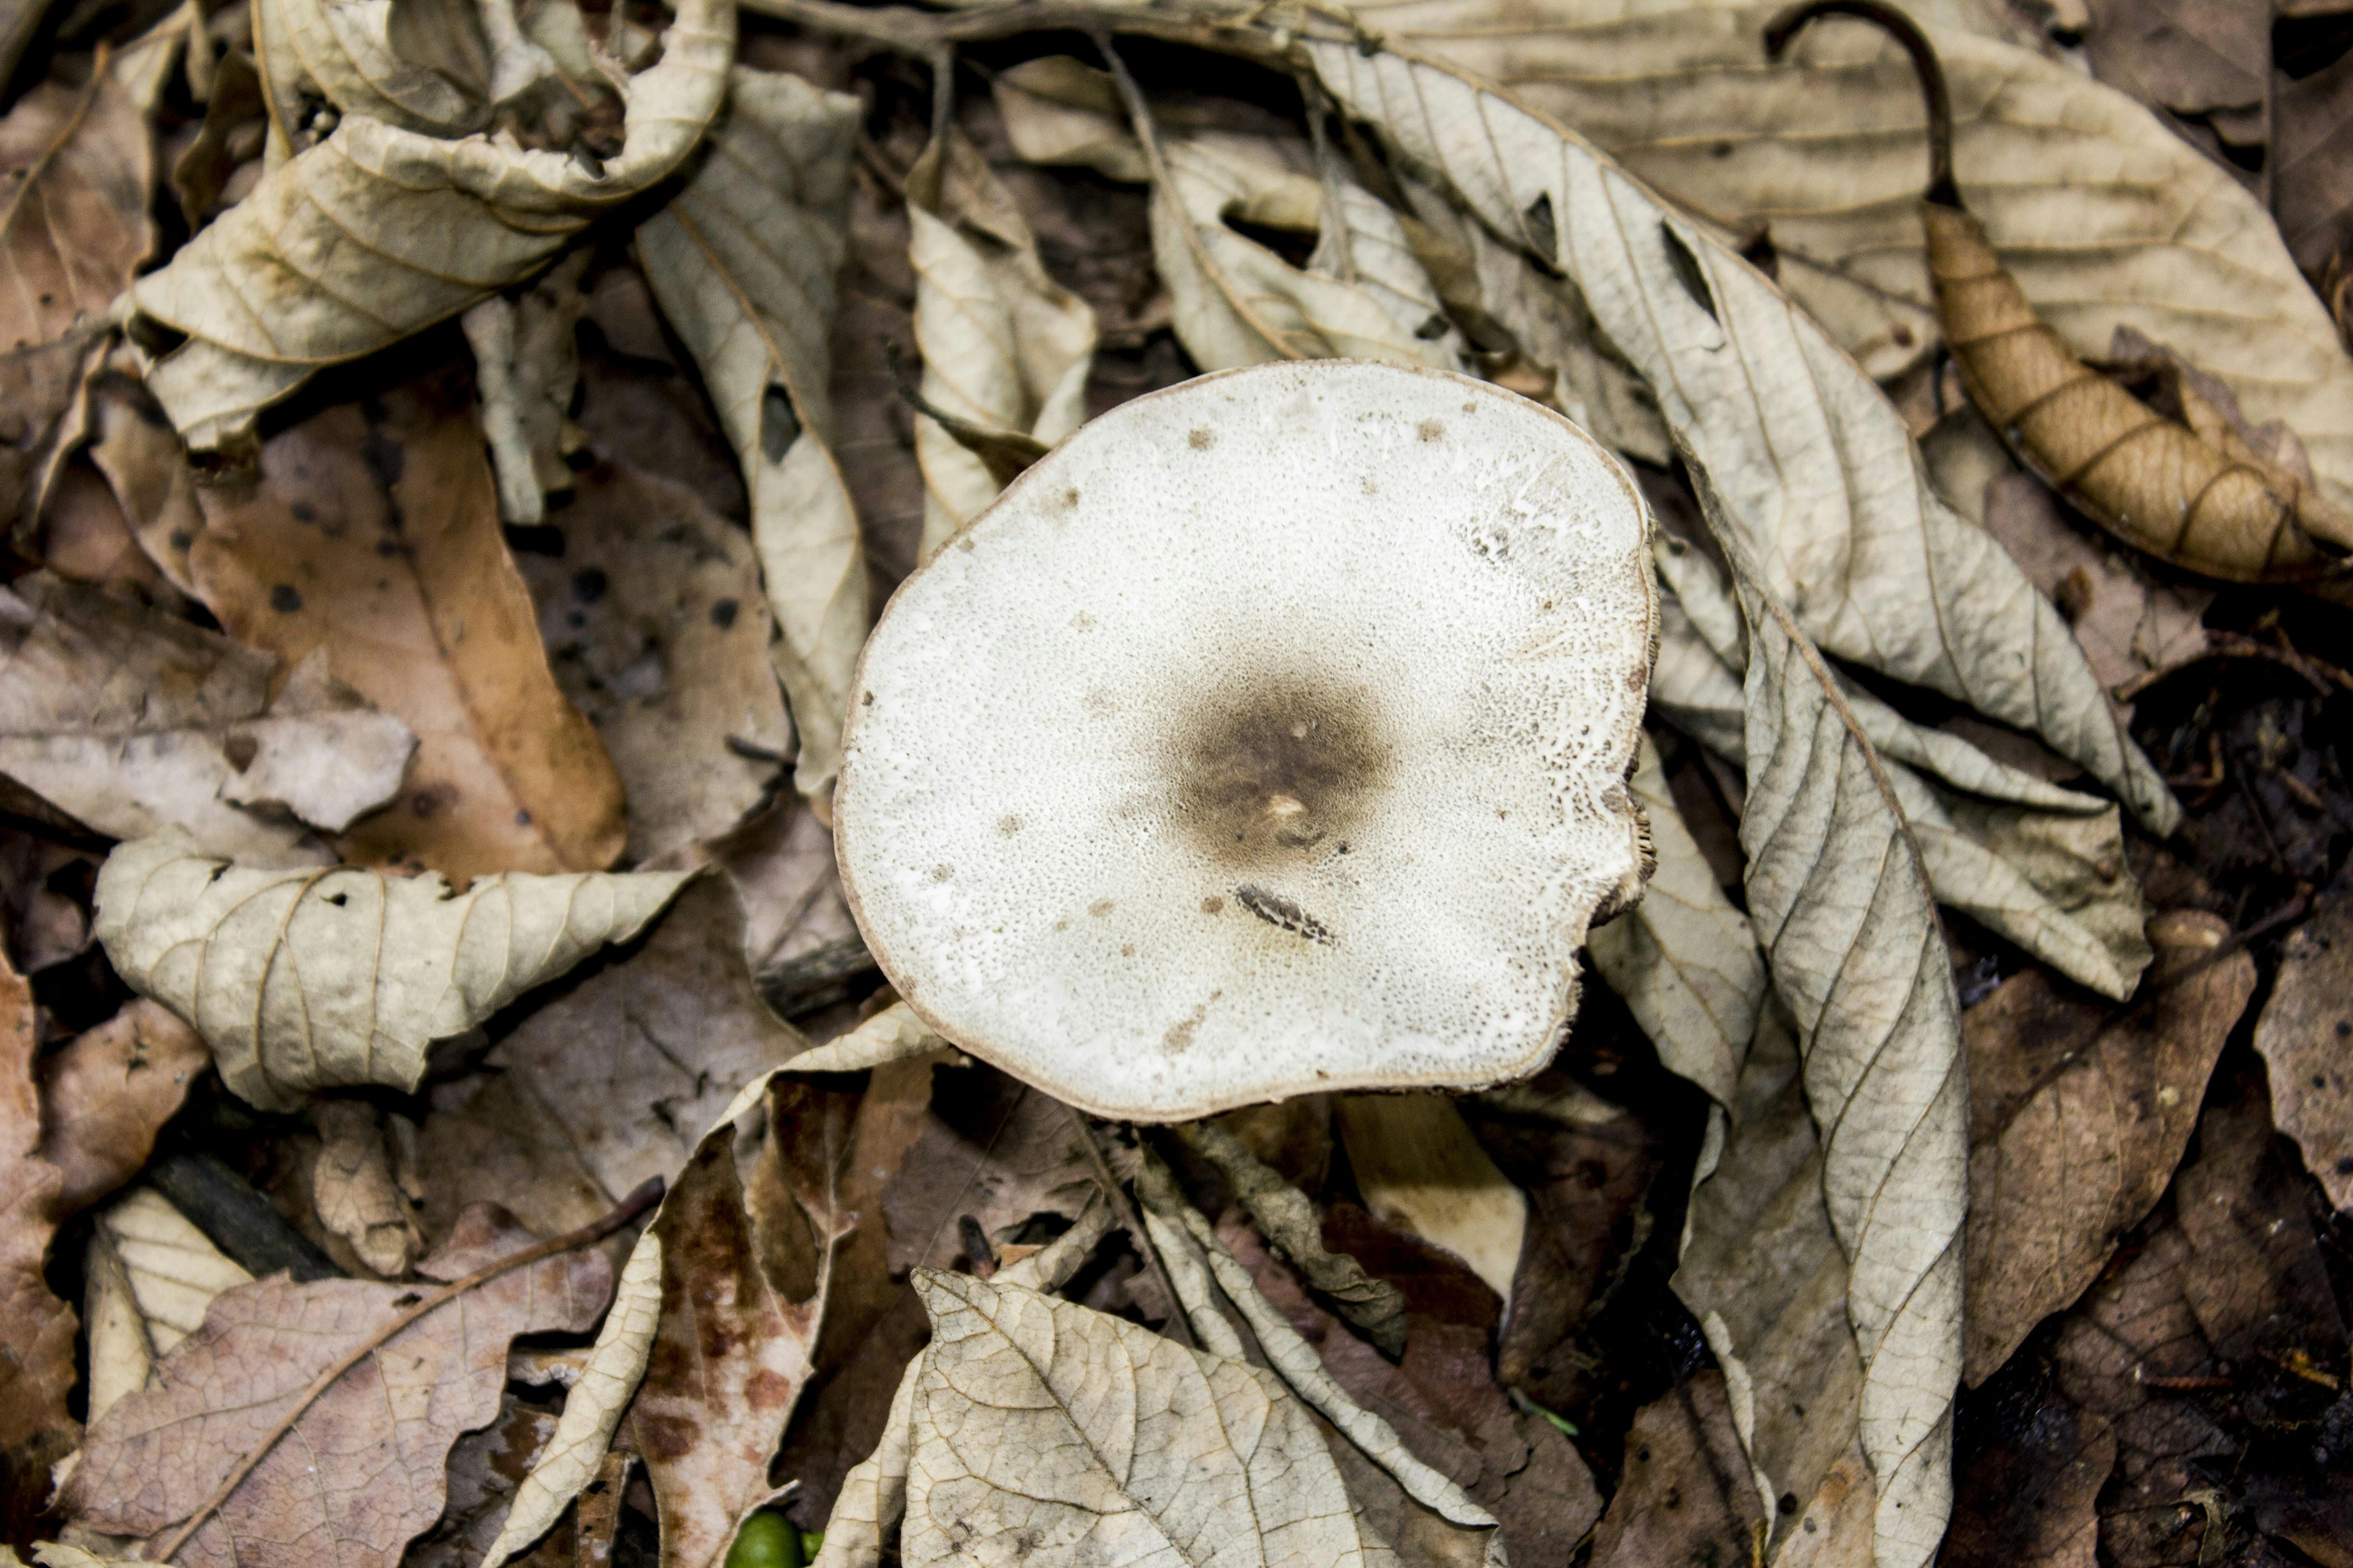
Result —
M711 150L638 228L638 259L704 371L751 491L753 545L781 637L812 799L840 762L849 672L866 639L859 520L833 458L835 270L849 228L856 99L736 66Z

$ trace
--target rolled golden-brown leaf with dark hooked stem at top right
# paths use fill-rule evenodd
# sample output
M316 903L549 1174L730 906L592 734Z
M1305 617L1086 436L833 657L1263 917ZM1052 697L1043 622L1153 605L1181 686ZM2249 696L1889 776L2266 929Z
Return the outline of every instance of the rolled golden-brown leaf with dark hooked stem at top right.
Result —
M1937 317L1969 400L2019 458L2111 534L2158 559L2231 581L2327 574L2353 550L2353 512L2231 433L2205 437L2101 376L2035 315L1953 183L1951 108L1927 35L1904 12L1826 0L1765 33L1779 54L1817 16L1866 16L1913 56L1929 103L1920 197Z

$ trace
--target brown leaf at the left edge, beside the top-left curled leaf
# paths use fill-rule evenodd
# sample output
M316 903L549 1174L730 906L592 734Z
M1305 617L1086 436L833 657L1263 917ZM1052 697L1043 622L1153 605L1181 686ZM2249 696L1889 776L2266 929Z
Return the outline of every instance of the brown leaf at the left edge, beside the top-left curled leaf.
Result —
M0 517L21 541L106 308L155 242L155 155L139 106L101 63L87 87L40 82L16 101L0 120Z

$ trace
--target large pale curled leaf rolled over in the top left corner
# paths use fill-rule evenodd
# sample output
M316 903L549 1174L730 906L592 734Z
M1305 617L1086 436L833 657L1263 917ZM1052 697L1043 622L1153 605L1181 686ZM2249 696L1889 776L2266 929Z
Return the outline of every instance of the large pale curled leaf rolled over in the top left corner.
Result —
M148 386L191 447L249 442L254 416L318 367L520 282L668 179L718 113L732 56L734 7L682 0L659 63L626 80L624 143L602 160L341 115L136 282L139 320L186 334Z

